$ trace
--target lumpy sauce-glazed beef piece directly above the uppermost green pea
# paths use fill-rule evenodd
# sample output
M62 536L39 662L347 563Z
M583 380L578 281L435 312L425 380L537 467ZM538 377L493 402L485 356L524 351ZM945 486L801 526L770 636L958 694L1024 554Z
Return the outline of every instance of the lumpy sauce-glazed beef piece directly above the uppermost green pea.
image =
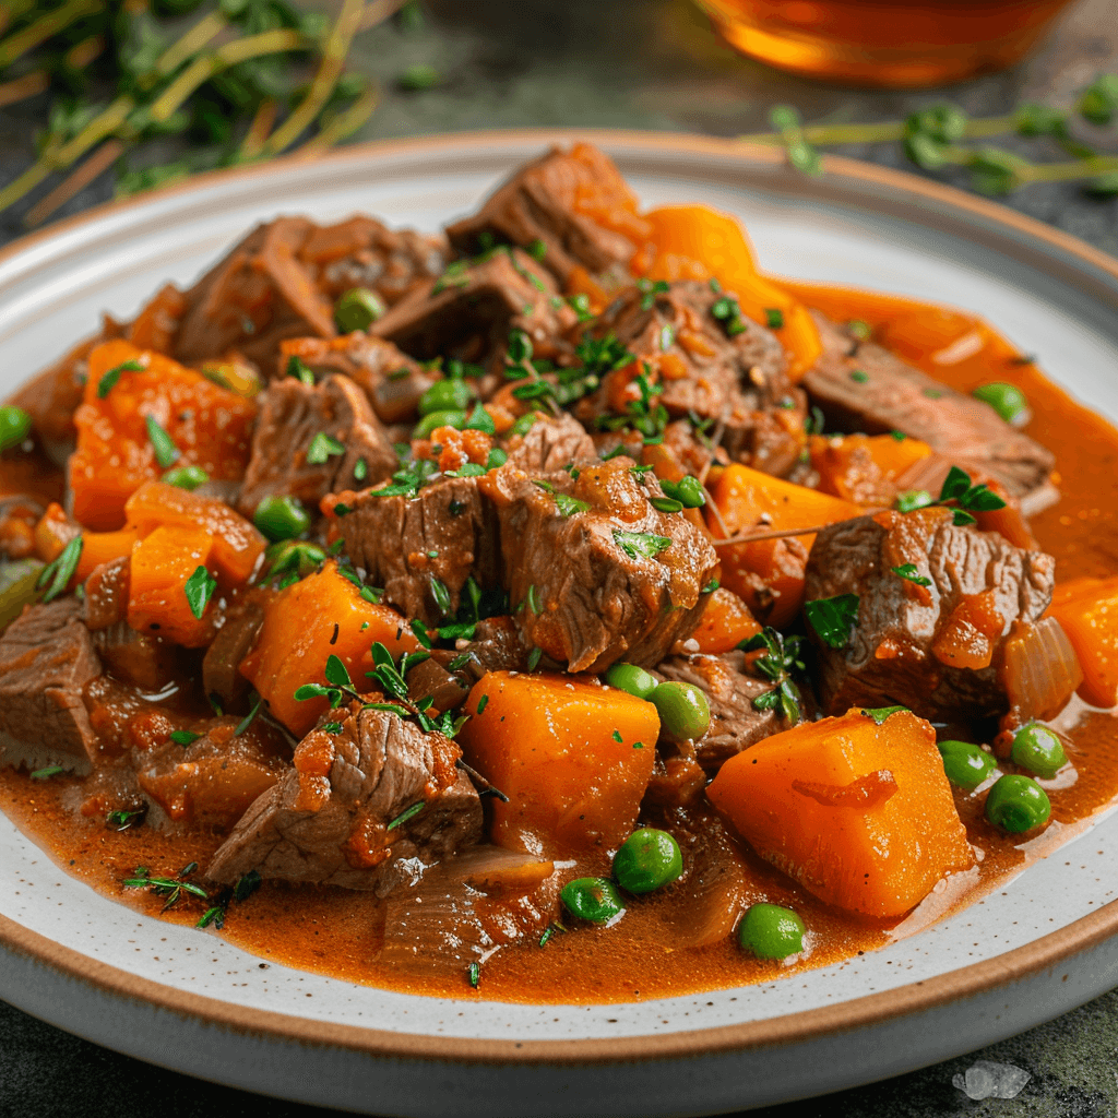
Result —
M449 246L442 234L389 229L360 214L312 229L299 257L331 302L364 287L391 306L417 284L443 274Z

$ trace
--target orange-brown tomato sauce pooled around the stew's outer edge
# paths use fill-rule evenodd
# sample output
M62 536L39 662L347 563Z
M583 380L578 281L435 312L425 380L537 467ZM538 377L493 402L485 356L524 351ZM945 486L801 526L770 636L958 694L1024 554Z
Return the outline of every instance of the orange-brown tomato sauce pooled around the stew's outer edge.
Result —
M1026 433L1057 457L1053 482L1061 500L1035 517L1032 528L1055 557L1059 580L1118 571L1118 430L1049 381L1029 356L978 318L897 296L779 283L834 319L868 322L882 344L960 391L989 381L1017 385L1034 416ZM26 479L0 473L0 492L17 491L21 483ZM39 487L53 484L49 477L39 480ZM544 946L532 937L502 948L485 961L476 988L462 966L442 966L430 956L410 966L379 961L383 904L349 890L264 882L229 907L222 930L198 935L220 935L262 959L349 982L508 1002L601 1004L769 982L872 950L973 902L1027 861L1051 854L1076 824L1111 803L1118 796L1118 718L1073 699L1058 726L1069 739L1074 773L1042 781L1052 802L1052 823L1042 840L1022 843L996 831L983 817L983 797L956 789L959 814L980 852L978 865L934 891L902 921L871 921L830 908L747 852L746 903L792 907L808 929L807 950L784 964L747 956L733 937L680 947L674 885L641 898L610 927L582 926L551 935ZM149 916L195 925L207 901L183 897L163 910L163 898L121 882L138 865L149 866L152 875L173 875L190 862L205 865L221 836L143 826L106 830L100 816L77 812L85 795L80 786L76 777L31 780L26 769L2 769L0 807L67 872L105 896Z

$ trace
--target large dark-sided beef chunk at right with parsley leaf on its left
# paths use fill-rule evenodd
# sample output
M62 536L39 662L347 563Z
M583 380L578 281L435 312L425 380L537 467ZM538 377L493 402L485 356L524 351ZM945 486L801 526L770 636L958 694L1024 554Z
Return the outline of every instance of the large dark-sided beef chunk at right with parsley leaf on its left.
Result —
M908 563L928 586L896 574ZM900 704L931 721L1004 714L1004 638L1048 608L1054 569L1051 556L956 527L949 509L882 512L824 529L807 563L806 600L859 596L858 625L843 647L808 626L824 711Z

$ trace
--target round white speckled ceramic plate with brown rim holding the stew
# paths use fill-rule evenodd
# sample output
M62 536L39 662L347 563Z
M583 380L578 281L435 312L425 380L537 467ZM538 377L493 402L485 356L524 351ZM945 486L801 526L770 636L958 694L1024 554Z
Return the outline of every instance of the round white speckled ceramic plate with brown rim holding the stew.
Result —
M645 203L739 215L761 265L980 311L1118 417L1118 265L1001 207L843 160L633 133L357 148L110 206L0 255L0 396L253 222L366 210L434 229L518 163L599 143ZM420 998L259 960L68 878L0 817L0 995L164 1067L380 1115L695 1115L837 1090L991 1043L1118 984L1118 816L892 947L794 979L631 1005Z

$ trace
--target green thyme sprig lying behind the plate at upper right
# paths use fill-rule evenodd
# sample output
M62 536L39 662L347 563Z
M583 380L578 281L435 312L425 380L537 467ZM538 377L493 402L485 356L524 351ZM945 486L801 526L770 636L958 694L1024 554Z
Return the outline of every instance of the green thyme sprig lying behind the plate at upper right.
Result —
M1008 195L1033 182L1086 180L1096 197L1118 195L1118 154L1100 153L1078 139L1077 119L1105 127L1118 117L1118 74L1102 74L1083 89L1074 108L1025 102L1012 113L968 117L957 105L944 103L911 113L903 121L872 124L803 124L789 105L777 105L769 120L774 132L739 136L748 143L783 146L788 162L806 174L819 174L818 148L850 143L900 142L904 154L925 171L963 167L970 172L974 189L987 195ZM1073 159L1034 162L1002 148L969 146L961 141L989 140L1016 134L1048 140Z

